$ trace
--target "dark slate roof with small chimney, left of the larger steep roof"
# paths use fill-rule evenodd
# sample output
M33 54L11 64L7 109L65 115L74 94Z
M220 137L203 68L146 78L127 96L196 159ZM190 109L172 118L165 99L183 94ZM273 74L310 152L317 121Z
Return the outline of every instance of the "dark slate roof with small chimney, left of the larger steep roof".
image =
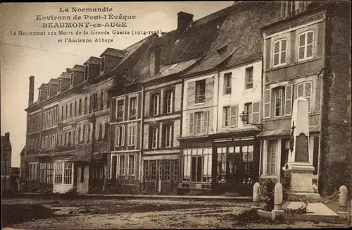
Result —
M224 8L190 23L178 39L177 29L163 33L161 37L154 36L153 44L149 46L147 52L144 52L139 57L137 64L130 69L129 77L133 78L134 82L147 81L151 80L151 78L162 78L189 68L208 50L210 44L215 40L219 28L233 7ZM150 76L150 52L155 47L161 48L161 74ZM167 71L175 63L179 63L180 66L175 66L177 68L174 70L170 71L169 69Z

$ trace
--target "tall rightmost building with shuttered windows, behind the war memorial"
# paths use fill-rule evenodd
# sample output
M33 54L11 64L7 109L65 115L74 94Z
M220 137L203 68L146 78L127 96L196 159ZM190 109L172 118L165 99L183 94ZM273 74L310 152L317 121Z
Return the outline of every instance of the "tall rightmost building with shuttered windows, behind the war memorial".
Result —
M263 150L260 178L278 181L281 177L289 155L293 101L304 97L308 100L309 162L315 168L313 183L319 184L320 193L326 195L343 183L350 185L344 177L349 175L351 178L348 169L350 158L337 151L344 148L342 152L346 152L350 149L348 143L351 143L351 125L348 125L348 118L351 117L351 111L348 114L348 110L351 110L351 96L348 96L351 95L351 88L348 88L348 84L351 85L351 80L347 80L348 63L341 60L341 56L346 57L343 49L351 47L346 40L348 34L343 29L348 30L347 19L344 18L347 14L343 2L332 1L283 2L281 10L282 20L261 29L264 44L265 131L258 135ZM341 13L341 16L337 16L337 13ZM331 20L339 19L341 23L334 27ZM337 59L344 68L337 67ZM332 84L329 83L331 80ZM339 92L334 91L332 96L334 88L339 88ZM341 126L337 126L337 123ZM336 139L337 133L344 143ZM327 171L330 172L329 176Z

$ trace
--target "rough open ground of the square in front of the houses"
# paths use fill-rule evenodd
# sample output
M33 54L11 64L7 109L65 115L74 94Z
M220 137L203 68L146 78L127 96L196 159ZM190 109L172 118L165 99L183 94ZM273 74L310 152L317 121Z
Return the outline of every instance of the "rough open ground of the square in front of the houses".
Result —
M15 229L334 228L350 224L274 222L251 216L251 202L125 199L1 201L3 227Z

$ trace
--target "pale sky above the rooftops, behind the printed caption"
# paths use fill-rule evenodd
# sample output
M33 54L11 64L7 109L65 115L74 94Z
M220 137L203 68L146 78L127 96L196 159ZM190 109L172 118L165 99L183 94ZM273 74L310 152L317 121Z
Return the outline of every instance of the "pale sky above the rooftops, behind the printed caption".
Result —
M20 166L20 151L25 146L26 112L30 75L34 75L34 102L38 98L38 87L48 83L66 68L83 64L90 56L100 56L108 47L125 49L147 35L112 35L118 31L161 30L169 32L177 28L177 13L184 11L194 15L194 20L220 11L233 1L187 1L187 2L82 2L82 3L3 3L0 4L0 80L1 80L1 135L10 133L12 145L12 167ZM108 13L72 12L77 8L112 8ZM62 9L61 9L62 8ZM64 11L65 8L69 12ZM135 16L131 20L89 20L84 16ZM82 16L81 20L73 17ZM40 16L40 17L38 17ZM46 16L70 16L71 20L38 20ZM120 23L125 28L43 28L43 23ZM49 31L73 32L73 35L48 35ZM89 35L75 35L77 30L86 30ZM95 31L108 30L110 35L91 35ZM23 32L46 32L46 35L19 35ZM16 34L15 34L16 33ZM92 39L104 37L113 42L68 43L58 40Z

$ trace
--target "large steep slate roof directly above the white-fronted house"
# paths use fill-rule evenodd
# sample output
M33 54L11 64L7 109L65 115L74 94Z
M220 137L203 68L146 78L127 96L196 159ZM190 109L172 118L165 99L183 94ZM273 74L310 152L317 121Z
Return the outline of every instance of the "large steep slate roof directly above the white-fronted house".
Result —
M184 74L220 67L237 66L254 61L262 55L260 28L278 20L279 1L242 1L232 5L233 11L220 28L208 52L194 68ZM225 52L219 49L225 48Z

